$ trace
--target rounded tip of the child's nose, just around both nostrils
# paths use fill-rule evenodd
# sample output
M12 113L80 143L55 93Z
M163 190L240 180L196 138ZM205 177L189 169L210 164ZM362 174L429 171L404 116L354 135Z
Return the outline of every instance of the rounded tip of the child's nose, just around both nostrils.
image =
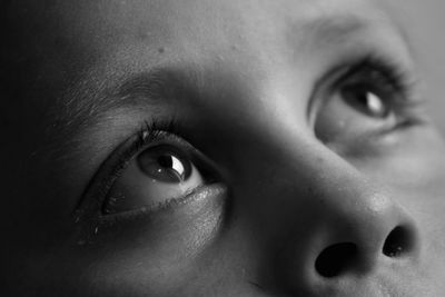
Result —
M337 199L336 206L327 210L330 214L325 215L329 218L326 239L314 263L318 276L369 274L385 260L394 263L416 254L415 224L387 196L379 194L376 198L375 194L362 192L353 198L354 204L343 199Z

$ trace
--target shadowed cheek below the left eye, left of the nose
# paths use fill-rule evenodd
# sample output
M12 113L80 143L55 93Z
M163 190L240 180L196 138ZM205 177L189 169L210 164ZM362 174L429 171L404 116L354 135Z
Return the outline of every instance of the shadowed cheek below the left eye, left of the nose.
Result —
M198 198L150 218L98 227L77 251L86 287L100 296L176 296L204 269L201 251L220 229L224 200Z

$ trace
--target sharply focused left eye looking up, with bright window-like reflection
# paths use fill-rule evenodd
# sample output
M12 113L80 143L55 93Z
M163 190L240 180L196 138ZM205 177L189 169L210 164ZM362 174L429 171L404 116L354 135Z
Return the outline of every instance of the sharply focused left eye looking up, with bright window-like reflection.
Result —
M174 145L155 145L129 160L111 187L102 212L156 209L205 184L186 151Z

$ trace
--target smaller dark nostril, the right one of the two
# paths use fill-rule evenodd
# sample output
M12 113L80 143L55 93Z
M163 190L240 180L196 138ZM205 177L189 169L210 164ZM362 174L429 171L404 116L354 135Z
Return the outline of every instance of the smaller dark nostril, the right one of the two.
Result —
M400 257L413 249L414 238L407 228L394 228L385 240L383 254L390 258Z

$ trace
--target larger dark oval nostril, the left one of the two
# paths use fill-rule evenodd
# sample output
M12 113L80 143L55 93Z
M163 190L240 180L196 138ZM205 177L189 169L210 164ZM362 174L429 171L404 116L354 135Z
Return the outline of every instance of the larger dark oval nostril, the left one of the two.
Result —
M317 273L324 277L336 277L349 269L357 257L357 246L343 242L327 247L315 261Z

